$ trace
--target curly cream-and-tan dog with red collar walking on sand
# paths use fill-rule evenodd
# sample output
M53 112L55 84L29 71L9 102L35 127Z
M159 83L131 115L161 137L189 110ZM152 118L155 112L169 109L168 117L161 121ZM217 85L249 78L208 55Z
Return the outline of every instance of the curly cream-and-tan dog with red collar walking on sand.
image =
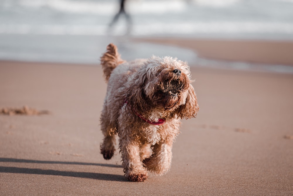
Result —
M195 117L199 110L188 64L168 56L126 62L112 43L100 61L108 83L101 154L112 158L117 134L127 180L144 181L148 171L165 174L180 118Z

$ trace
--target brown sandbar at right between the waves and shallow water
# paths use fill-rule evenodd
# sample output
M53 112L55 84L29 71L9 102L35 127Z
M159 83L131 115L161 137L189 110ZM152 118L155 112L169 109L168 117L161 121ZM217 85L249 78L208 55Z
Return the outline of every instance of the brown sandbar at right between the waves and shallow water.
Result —
M132 38L148 42L188 48L200 58L260 64L293 66L292 40L241 40L216 38Z

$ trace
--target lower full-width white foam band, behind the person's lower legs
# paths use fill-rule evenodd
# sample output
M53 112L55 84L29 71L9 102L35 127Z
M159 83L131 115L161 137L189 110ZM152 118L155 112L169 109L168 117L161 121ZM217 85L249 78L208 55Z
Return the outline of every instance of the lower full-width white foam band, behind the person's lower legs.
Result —
M105 35L108 25L32 25L32 24L0 24L0 33L40 34L40 35ZM123 35L124 26L116 27L116 35ZM150 23L135 24L132 35L190 35L190 34L220 34L227 36L239 33L282 33L293 35L291 23L265 22L194 22L194 23Z

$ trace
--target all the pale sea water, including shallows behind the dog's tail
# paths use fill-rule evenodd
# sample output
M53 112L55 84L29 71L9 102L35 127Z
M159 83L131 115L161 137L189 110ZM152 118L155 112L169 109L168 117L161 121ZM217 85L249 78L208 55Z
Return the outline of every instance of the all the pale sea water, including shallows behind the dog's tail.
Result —
M0 59L96 63L114 42L127 60L155 54L221 66L231 62L130 38L293 40L293 0L128 0L131 22L121 16L109 29L118 10L118 0L0 0ZM230 67L249 67L243 65Z

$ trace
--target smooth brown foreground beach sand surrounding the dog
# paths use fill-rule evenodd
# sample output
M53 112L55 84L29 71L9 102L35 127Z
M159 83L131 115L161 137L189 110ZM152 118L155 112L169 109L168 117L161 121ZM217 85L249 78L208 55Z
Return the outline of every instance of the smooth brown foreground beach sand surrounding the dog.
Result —
M124 180L99 154L100 66L0 62L0 195L293 195L293 75L191 68L200 111L171 170Z

